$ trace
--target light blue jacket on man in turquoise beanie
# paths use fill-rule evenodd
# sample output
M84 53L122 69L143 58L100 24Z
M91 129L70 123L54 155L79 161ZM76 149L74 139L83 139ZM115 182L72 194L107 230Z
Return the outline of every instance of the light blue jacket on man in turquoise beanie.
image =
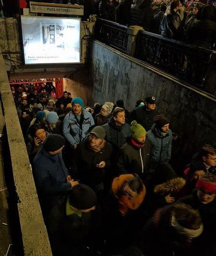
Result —
M72 111L64 118L63 135L71 146L79 144L89 134L89 129L95 124L92 114L82 110L80 122L77 120Z

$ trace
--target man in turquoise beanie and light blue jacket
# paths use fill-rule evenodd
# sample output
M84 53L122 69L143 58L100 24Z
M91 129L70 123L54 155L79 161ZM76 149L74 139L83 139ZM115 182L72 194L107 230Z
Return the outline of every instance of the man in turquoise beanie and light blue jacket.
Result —
M63 134L74 149L87 138L89 129L94 124L92 115L84 110L83 99L72 99L72 110L64 118Z

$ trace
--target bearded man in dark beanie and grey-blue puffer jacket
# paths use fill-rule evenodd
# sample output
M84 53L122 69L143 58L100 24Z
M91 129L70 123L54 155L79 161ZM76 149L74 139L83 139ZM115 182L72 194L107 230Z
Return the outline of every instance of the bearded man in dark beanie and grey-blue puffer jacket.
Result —
M165 116L156 115L154 124L146 133L151 149L151 169L161 162L168 162L171 158L172 131L169 129L169 121Z

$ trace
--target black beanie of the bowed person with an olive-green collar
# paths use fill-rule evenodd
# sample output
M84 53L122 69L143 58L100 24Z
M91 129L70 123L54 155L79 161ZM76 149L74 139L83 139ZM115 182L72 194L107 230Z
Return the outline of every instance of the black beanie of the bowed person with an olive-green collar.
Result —
M84 184L78 184L72 188L69 202L79 210L86 210L96 206L97 197L93 189Z

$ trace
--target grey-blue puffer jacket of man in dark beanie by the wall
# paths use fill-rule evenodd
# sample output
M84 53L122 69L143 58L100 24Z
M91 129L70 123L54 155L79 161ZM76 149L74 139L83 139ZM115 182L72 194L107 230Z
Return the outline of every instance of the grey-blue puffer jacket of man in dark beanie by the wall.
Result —
M158 164L168 162L171 158L172 131L163 136L154 123L151 130L146 133L146 137L150 140L152 146L152 162Z

